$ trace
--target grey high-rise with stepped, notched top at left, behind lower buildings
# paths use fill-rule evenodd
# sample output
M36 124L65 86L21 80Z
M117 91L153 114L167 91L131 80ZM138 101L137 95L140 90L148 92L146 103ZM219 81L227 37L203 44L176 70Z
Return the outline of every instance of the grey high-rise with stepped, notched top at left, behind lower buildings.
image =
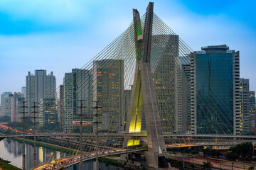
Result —
M35 70L35 75L28 72L26 76L26 101L39 103L43 98L55 98L56 79L53 72L46 75L46 70Z

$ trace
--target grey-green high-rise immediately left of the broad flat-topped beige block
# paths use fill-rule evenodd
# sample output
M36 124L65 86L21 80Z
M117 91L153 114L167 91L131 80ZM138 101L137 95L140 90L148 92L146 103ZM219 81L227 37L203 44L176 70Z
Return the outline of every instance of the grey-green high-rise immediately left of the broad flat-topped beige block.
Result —
M63 86L64 103L64 132L73 132L74 121L80 120L78 107L83 100L83 121L92 121L92 76L87 69L73 69L71 73L65 73Z

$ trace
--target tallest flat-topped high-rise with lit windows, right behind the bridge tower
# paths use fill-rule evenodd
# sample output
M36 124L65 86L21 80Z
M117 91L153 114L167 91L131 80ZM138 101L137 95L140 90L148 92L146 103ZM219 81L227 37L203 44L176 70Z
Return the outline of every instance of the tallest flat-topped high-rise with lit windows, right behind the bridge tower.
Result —
M151 70L163 132L186 132L187 88L178 57L178 35L152 36Z

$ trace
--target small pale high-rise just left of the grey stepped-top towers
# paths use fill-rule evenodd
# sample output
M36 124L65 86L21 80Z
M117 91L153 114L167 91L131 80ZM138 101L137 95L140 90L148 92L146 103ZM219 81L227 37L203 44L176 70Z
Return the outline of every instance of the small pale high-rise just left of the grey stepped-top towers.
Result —
M21 106L23 106L23 101L25 98L20 92L14 92L14 96L11 99L11 122L21 122L21 117L23 116L21 112L23 111Z

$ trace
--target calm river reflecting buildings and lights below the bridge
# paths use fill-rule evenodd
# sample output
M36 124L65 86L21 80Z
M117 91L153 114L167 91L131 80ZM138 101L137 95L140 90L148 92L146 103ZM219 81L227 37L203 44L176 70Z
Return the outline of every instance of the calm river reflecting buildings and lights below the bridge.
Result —
M26 150L26 169L33 169L33 146L25 144ZM23 143L4 139L0 141L0 158L10 161L12 165L22 168ZM46 149L44 147L36 147L37 165L49 162L60 157L68 157L68 154ZM71 166L68 170L76 170L79 165ZM94 169L92 161L83 162L83 169ZM118 167L100 163L101 169L119 170Z

